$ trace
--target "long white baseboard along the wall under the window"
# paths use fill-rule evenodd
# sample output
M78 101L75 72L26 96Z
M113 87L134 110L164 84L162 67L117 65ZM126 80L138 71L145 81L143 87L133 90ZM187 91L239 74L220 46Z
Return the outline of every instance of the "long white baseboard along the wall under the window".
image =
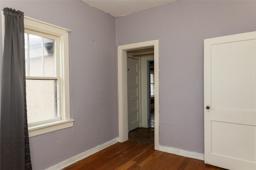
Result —
M114 138L102 145L96 146L95 148L87 150L87 151L80 153L72 158L69 158L69 159L64 160L54 166L51 166L50 168L47 168L46 170L61 170L63 168L66 168L67 166L70 166L70 165L72 165L72 164L92 155L92 154L95 154L96 152L99 152L100 150L103 150L103 149L107 148L108 146L111 146L117 142L118 142L118 138Z

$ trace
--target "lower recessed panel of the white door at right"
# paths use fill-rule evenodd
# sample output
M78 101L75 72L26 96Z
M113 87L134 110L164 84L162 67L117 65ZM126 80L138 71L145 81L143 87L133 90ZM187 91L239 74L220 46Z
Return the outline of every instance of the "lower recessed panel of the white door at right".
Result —
M212 154L250 162L255 161L252 149L255 145L254 130L255 127L250 125L212 121ZM241 145L237 147L237 143Z

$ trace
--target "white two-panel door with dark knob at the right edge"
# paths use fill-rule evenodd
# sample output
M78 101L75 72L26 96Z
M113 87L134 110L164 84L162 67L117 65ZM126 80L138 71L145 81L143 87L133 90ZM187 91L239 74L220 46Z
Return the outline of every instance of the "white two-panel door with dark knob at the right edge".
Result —
M204 154L256 170L256 32L204 40Z

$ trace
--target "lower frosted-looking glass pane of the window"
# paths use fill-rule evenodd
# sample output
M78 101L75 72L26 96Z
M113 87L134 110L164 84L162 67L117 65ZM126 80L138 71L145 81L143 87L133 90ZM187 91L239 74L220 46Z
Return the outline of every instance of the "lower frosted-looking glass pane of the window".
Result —
M26 80L28 123L58 117L56 80Z

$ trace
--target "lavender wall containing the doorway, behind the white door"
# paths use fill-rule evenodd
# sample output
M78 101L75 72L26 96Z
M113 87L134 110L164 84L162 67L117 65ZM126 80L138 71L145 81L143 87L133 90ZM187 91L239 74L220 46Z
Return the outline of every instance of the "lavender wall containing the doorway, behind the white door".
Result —
M159 40L160 145L204 153L203 40L256 31L255 1L177 1L116 19L117 45Z

